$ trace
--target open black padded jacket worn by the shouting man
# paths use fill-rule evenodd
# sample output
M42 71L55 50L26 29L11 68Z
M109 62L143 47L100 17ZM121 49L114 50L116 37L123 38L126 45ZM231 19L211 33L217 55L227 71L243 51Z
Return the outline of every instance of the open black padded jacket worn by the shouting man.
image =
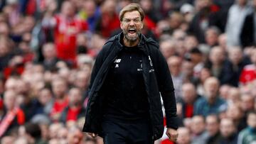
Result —
M122 38L123 33L110 38L97 55L89 86L90 97L87 104L85 126L83 128L85 132L101 135L104 94L101 94L100 90L110 65L115 57L117 57L117 54L124 48L120 43ZM166 60L158 49L159 45L151 38L147 39L144 35L140 35L138 48L144 53L142 56L142 71L149 101L149 114L153 132L152 139L156 140L161 138L164 133L160 95L164 101L167 127L174 129L178 127L176 124L174 85Z

